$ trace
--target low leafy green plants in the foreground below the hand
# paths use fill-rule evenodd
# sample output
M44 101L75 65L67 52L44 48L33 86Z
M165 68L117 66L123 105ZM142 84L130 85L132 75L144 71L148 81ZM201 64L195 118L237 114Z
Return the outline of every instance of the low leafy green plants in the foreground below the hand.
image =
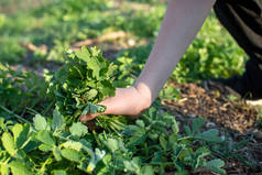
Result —
M0 120L0 173L2 175L154 175L188 174L207 168L226 174L223 162L212 158L209 144L221 139L217 130L200 132L205 120L195 119L179 134L168 113L151 108L123 132L90 133L86 125L66 123L54 110L53 119L36 114L33 123Z

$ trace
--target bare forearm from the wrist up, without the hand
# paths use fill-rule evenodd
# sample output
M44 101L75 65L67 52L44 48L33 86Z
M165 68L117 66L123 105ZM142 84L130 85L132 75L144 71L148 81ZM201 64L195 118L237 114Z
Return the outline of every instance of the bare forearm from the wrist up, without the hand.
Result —
M214 3L215 0L170 0L155 45L134 86L150 102L157 97Z

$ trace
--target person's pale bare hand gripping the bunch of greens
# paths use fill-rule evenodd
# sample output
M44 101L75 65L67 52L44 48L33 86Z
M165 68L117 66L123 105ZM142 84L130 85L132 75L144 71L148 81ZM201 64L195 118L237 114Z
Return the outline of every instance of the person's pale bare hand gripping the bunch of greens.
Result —
M99 114L123 114L134 119L150 107L151 98L142 94L142 90L135 87L129 87L117 89L114 97L106 98L99 105L107 107L103 113L81 116L79 120L89 121Z

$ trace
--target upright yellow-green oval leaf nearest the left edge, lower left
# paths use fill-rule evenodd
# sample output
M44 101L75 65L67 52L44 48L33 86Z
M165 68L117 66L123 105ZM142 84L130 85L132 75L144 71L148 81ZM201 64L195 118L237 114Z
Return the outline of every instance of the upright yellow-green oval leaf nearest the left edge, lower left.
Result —
M4 132L2 134L2 145L7 150L7 152L12 156L17 153L17 147L14 144L13 136L9 132Z

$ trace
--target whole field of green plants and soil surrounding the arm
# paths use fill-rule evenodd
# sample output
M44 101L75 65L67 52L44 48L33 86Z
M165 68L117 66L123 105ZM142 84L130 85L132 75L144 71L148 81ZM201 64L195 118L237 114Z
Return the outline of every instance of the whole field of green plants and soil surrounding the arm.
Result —
M1 175L261 174L262 108L203 84L242 74L248 59L214 12L139 119L78 120L134 83L165 8L0 1Z

